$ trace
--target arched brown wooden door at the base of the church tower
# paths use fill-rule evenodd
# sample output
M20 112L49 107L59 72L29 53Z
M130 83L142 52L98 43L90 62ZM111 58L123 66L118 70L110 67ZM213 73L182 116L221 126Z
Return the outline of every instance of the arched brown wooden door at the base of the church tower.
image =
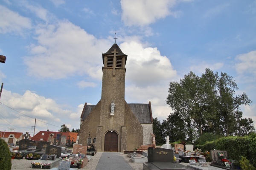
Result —
M109 131L105 135L104 152L118 151L118 135L114 131Z

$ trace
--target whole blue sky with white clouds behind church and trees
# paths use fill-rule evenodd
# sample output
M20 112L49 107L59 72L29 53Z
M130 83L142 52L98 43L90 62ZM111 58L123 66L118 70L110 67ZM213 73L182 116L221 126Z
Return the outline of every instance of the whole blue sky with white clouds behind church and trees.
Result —
M151 101L162 121L169 82L210 68L234 77L256 125L255 0L2 0L0 11L2 131L32 134L33 118L35 133L78 129L84 103L101 98L102 53L115 32L128 55L128 103Z

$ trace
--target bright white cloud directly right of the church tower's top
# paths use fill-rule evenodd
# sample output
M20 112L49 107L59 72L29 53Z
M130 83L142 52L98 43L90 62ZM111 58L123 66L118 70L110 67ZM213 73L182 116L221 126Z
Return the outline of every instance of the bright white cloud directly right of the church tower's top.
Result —
M120 45L122 52L128 55L126 79L138 86L159 84L177 75L170 60L161 56L157 48L143 48L142 44L131 41Z

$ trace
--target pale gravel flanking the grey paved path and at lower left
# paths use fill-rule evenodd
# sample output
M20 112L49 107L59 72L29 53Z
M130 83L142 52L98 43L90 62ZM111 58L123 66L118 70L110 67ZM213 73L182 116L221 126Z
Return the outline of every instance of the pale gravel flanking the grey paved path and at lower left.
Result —
M128 158L126 154L119 153L119 156L122 156L125 161L127 161L131 167L134 170L143 170L143 164L142 163L132 163L131 159ZM96 166L98 164L98 161L100 157L102 156L102 152L97 152L95 156L92 156L90 161L87 163L87 165L84 168L84 170L95 170ZM12 159L12 169L11 170L29 170L31 168L31 162L32 160L27 159ZM41 170L41 169L33 169L33 170Z

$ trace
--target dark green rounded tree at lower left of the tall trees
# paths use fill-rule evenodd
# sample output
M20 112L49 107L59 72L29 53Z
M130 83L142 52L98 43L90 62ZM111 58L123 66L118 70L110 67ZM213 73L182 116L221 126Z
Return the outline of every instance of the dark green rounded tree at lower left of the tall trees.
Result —
M163 120L163 136L169 136L170 142L185 141L187 128L179 113L171 113L166 120Z

